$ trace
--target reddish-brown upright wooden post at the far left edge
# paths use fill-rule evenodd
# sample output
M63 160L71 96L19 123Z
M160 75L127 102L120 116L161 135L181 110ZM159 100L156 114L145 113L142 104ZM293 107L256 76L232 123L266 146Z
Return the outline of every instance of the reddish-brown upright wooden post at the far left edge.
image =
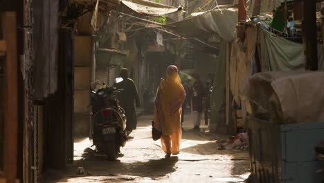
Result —
M17 179L17 19L16 12L4 12L2 15L3 39L7 43L5 62L5 103L4 103L4 152L3 170L7 183Z

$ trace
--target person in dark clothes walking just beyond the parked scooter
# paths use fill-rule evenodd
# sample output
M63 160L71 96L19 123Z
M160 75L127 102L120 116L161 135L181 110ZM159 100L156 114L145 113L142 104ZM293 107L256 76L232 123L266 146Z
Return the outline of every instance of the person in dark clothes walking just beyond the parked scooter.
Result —
M132 130L136 129L136 107L140 105L138 92L134 81L128 78L128 71L126 68L121 69L120 77L123 78L122 82L116 83L117 89L124 89L120 96L120 106L125 110L126 116L126 129L127 134L130 134ZM136 105L136 106L135 106Z

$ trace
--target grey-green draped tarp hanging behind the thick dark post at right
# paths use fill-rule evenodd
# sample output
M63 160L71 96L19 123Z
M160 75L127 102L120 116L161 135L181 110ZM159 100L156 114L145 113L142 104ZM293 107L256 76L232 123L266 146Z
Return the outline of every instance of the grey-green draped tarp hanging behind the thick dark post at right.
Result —
M291 42L283 37L259 29L260 61L262 71L296 71L304 70L303 44ZM318 44L318 68L322 64L321 44Z

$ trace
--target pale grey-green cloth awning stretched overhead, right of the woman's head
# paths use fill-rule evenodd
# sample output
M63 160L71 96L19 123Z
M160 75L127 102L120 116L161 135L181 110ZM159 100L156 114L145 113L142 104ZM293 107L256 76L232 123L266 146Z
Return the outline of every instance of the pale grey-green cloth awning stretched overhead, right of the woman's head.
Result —
M217 34L230 42L237 37L237 16L237 8L210 10L192 14L182 21L166 24L165 28L175 30L185 37L199 37L204 33Z

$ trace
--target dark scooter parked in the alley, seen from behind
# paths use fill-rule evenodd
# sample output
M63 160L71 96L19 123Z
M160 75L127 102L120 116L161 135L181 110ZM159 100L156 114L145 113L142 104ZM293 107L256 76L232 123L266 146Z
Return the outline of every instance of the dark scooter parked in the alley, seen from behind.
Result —
M127 141L125 111L117 99L123 89L108 87L104 82L98 81L96 85L101 87L91 90L93 145L99 154L106 155L109 160L115 160L120 153L120 147L125 146Z

